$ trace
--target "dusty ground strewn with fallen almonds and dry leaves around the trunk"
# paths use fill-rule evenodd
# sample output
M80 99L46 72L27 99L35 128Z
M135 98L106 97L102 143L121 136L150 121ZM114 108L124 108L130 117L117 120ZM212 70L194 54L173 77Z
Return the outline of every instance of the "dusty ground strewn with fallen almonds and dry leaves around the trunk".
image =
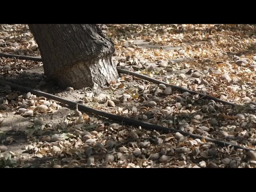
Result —
M118 67L254 107L254 25L100 27L115 44L113 62ZM0 51L40 56L26 25L1 25ZM44 77L40 62L1 58L0 66L1 78L16 84L114 114L255 149L256 116L240 108L170 92L128 75L103 89L66 91ZM123 126L83 112L77 117L68 106L8 86L0 86L0 94L1 167L256 166L255 152Z

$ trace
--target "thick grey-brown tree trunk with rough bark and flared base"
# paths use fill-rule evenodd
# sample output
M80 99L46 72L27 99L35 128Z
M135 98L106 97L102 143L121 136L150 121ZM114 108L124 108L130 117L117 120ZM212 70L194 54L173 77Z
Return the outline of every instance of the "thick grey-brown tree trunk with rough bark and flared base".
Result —
M96 24L29 24L41 52L44 74L62 87L104 86L118 78L114 44Z

